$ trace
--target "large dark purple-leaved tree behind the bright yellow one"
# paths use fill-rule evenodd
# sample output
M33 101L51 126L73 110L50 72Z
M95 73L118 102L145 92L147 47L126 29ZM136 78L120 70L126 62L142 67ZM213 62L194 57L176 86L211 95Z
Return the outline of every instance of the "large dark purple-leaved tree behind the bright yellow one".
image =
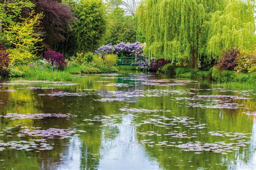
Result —
M36 13L44 13L40 26L44 31L44 46L53 48L57 43L65 42L70 30L70 21L75 19L71 9L58 1L33 0Z

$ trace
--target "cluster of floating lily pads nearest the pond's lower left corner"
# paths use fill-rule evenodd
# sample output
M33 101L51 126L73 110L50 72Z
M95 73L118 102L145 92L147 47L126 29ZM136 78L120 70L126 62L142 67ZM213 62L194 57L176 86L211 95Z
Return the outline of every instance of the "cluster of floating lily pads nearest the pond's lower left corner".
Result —
M52 145L48 144L49 139L66 139L71 138L75 133L85 132L83 130L71 130L61 128L48 128L42 127L28 127L16 125L13 127L6 127L0 131L0 136L6 138L19 137L27 140L10 140L5 142L0 140L0 151L4 149L15 149L24 151L44 151L51 150ZM78 135L78 134L77 134ZM36 139L30 139L30 138ZM16 139L16 138L14 138Z

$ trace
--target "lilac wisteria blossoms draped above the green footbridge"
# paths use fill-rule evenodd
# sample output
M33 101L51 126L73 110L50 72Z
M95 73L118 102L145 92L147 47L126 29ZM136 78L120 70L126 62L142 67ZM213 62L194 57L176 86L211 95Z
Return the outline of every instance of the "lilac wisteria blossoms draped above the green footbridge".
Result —
M99 56L103 57L109 54L116 54L118 57L144 57L143 53L143 45L139 42L136 43L124 43L121 42L117 45L107 44L105 46L100 46L96 51L95 54L99 54Z

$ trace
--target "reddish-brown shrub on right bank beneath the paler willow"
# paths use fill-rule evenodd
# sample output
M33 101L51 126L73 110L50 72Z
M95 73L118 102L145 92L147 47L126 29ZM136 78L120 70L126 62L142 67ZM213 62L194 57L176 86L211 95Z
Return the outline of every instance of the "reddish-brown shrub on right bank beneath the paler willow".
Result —
M238 49L227 49L220 56L217 63L217 67L220 70L234 70L234 67L237 66L235 59L240 54Z

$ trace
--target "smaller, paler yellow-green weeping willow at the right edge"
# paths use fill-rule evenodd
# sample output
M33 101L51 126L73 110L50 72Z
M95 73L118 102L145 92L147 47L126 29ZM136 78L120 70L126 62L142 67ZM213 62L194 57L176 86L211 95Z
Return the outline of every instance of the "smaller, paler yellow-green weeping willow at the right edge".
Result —
M207 40L209 58L216 58L228 48L250 49L256 45L254 38L253 1L234 1L227 4L223 11L211 16Z

